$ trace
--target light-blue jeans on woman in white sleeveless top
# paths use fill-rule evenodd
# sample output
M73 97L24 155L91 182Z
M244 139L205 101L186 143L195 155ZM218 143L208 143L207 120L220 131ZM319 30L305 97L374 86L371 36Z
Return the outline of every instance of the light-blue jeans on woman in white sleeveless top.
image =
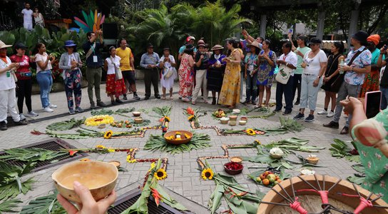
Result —
M314 87L312 83L318 78L317 75L302 74L302 83L300 87L300 108L310 108L310 111L315 111L317 108L318 91L323 83L323 78L320 78L320 83L317 87Z

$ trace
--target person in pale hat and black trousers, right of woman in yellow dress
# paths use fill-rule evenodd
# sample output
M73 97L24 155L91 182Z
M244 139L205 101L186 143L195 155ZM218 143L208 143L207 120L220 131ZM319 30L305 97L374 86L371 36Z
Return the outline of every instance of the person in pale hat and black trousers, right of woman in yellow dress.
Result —
M245 69L244 69L244 78L245 78L245 93L246 98L244 104L255 104L257 97L257 70L259 68L259 54L260 46L257 41L253 41L250 46L250 53L245 56Z

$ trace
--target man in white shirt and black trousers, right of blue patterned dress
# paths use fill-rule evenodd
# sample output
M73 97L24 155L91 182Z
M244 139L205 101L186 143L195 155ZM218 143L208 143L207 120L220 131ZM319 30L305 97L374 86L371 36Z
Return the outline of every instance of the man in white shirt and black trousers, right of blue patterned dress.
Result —
M281 111L283 107L282 98L283 93L285 95L285 112L283 115L289 115L292 112L292 101L294 99L292 93L292 86L294 84L294 70L297 68L297 55L291 51L292 44L290 41L287 41L282 46L283 54L276 61L277 65L285 65L288 68L292 69L290 78L286 84L276 83L276 108L275 111ZM277 73L280 75L280 73Z

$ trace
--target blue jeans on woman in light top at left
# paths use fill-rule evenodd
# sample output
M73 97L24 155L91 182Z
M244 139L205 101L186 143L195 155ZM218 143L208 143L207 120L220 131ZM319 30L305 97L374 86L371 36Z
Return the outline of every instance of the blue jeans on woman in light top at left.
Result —
M53 86L53 78L51 77L51 70L39 71L36 74L36 81L41 88L41 103L42 107L46 108L50 106L50 91Z

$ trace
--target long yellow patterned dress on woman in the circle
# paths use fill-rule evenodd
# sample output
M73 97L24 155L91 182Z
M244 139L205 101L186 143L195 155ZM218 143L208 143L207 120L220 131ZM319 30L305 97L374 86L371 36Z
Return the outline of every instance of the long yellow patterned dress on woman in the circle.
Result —
M236 60L235 51L238 51L238 49L233 50L230 54L229 58L231 60ZM240 103L240 71L240 63L227 62L223 87L220 91L220 101L218 103L226 106L235 106Z

